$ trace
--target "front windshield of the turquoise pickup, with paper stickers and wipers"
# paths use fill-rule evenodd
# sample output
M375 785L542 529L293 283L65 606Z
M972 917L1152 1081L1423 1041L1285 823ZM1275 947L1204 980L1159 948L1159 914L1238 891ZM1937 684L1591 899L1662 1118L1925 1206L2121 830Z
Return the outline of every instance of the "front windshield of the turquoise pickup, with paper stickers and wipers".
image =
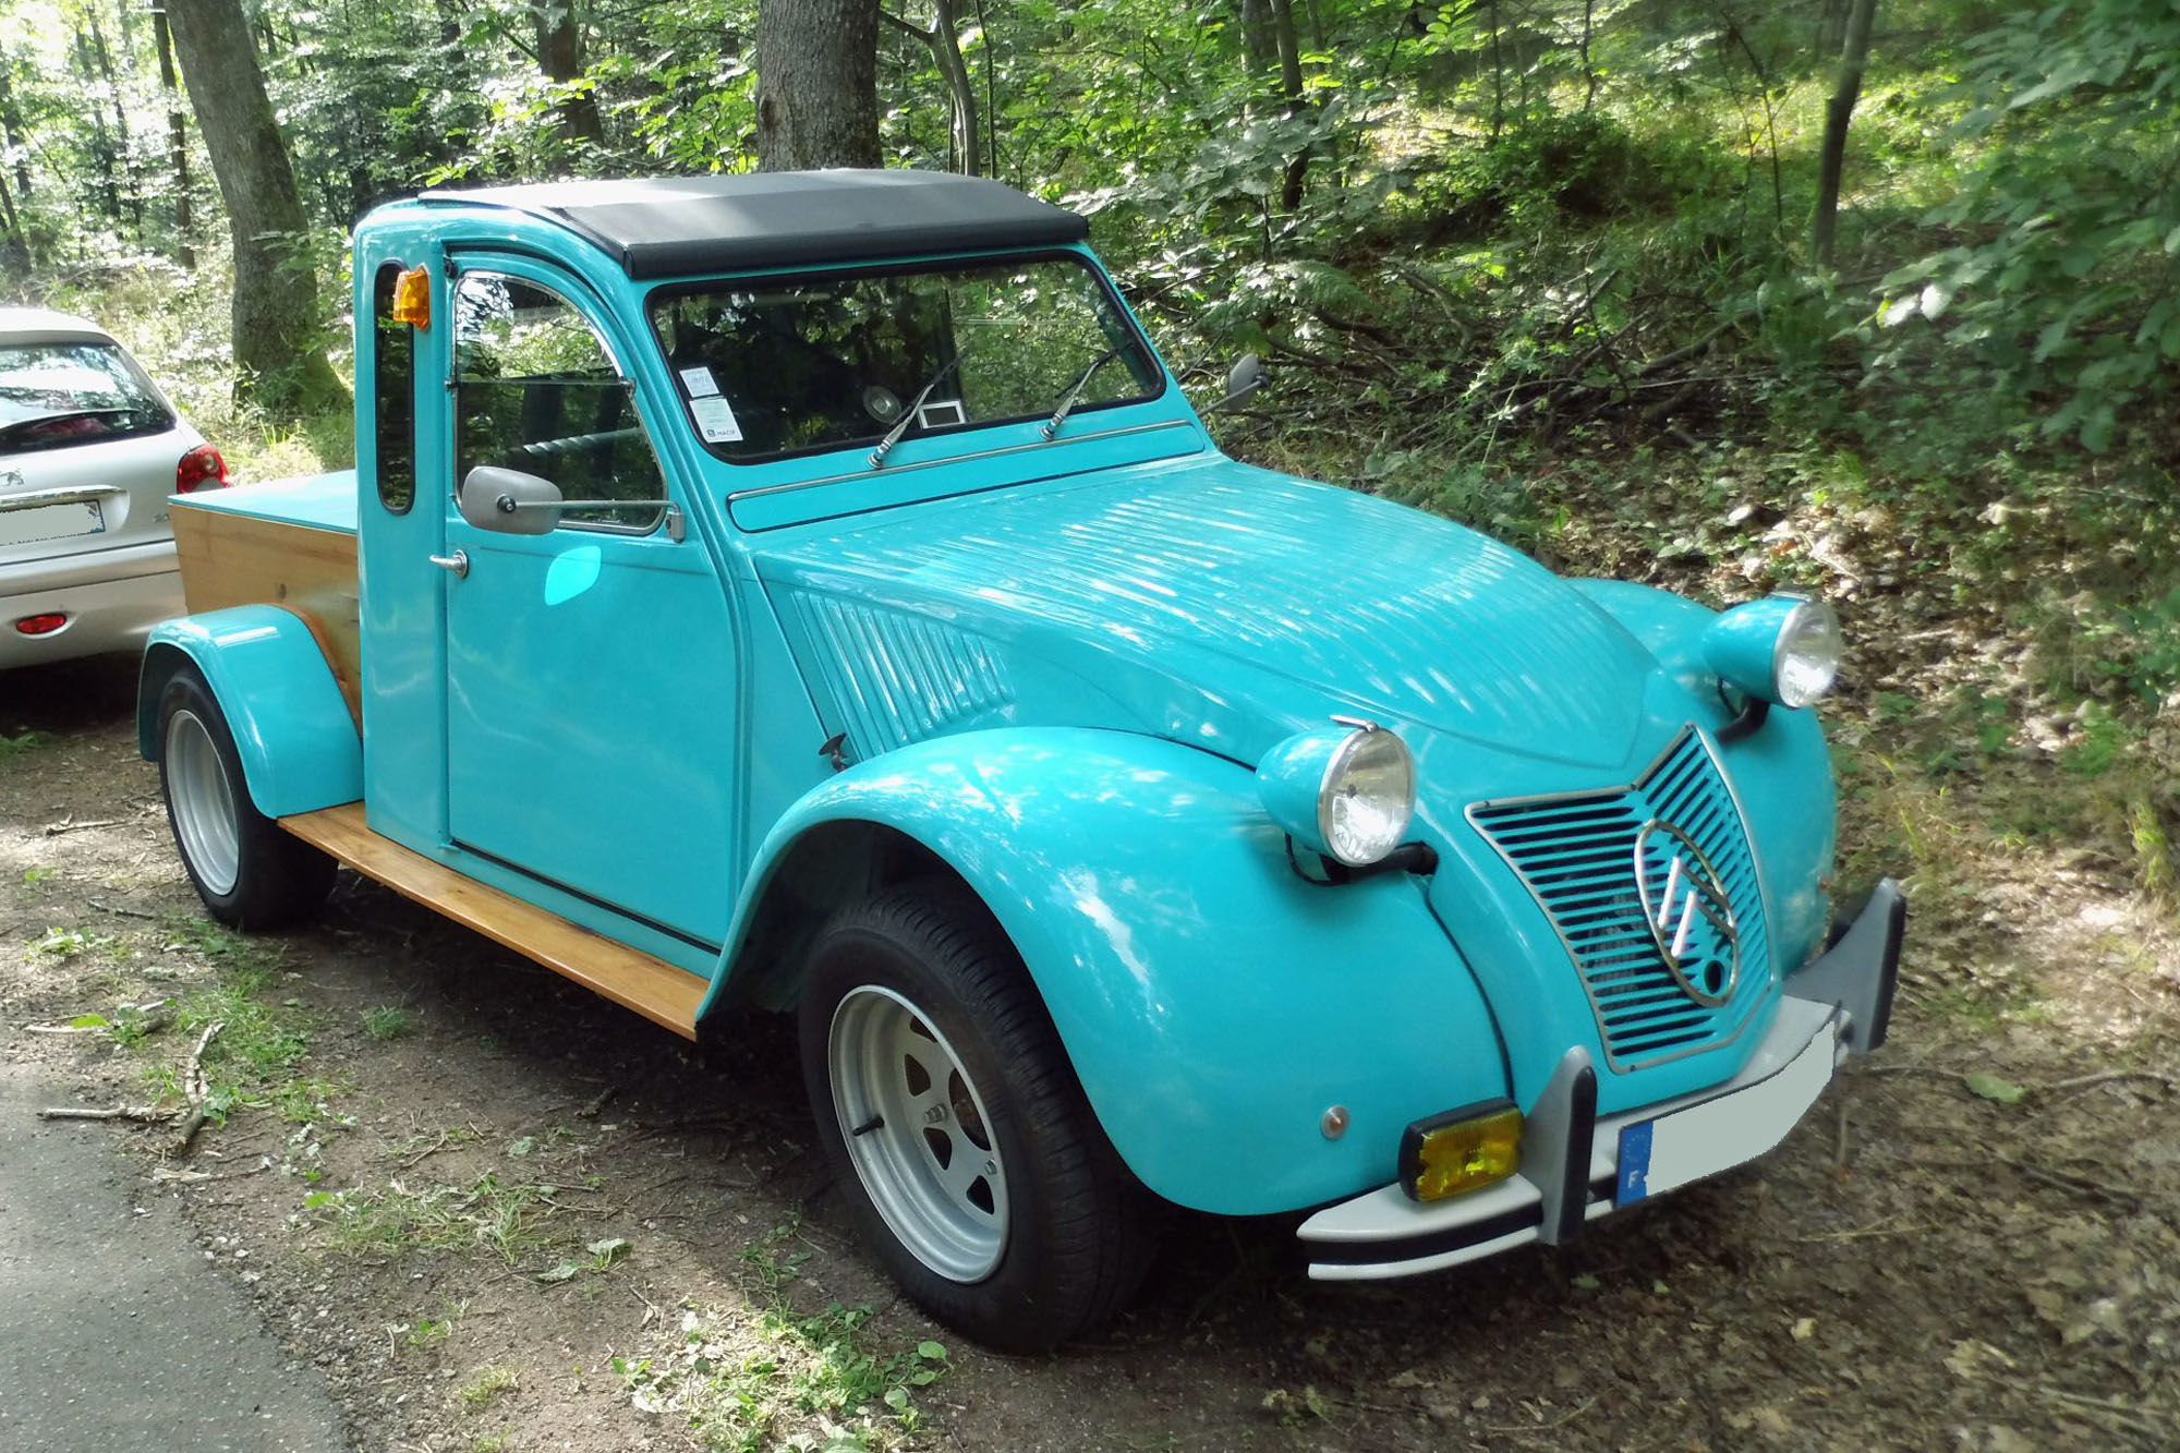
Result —
M1051 419L1103 353L1070 417L1164 388L1070 255L706 284L654 295L652 327L698 436L735 463Z

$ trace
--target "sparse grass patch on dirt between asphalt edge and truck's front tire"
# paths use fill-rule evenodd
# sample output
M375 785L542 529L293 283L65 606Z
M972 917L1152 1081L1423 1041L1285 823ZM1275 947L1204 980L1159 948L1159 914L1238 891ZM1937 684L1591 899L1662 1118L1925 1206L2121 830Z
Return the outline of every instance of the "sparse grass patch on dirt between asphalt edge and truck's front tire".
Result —
M486 1250L506 1265L554 1244L552 1185L504 1185L486 1172L469 1187L412 1191L310 1191L303 1220L320 1228L318 1248L342 1257L399 1257L419 1250Z

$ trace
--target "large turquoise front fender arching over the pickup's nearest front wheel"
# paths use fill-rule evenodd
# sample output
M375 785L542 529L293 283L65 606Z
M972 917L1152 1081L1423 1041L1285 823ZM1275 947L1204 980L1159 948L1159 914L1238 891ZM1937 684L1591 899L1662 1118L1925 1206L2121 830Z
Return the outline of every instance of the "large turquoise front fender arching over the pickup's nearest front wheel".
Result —
M961 733L818 785L759 851L715 999L772 870L841 820L913 838L981 894L1105 1134L1166 1200L1254 1215L1354 1196L1395 1178L1408 1121L1506 1093L1419 879L1306 884L1254 772L1116 731Z

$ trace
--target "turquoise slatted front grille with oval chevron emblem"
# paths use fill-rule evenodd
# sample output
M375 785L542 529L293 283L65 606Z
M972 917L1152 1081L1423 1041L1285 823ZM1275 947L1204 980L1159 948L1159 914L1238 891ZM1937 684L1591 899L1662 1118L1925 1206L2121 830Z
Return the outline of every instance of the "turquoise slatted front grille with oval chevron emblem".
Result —
M1476 803L1469 822L1522 875L1552 918L1598 1017L1607 1062L1642 1069L1731 1041L1770 988L1770 945L1748 831L1703 735L1687 726L1628 788ZM1666 822L1709 860L1733 903L1740 980L1698 1004L1659 953L1635 881L1635 838ZM1650 862L1650 897L1666 892ZM1703 966L1683 964L1698 984Z

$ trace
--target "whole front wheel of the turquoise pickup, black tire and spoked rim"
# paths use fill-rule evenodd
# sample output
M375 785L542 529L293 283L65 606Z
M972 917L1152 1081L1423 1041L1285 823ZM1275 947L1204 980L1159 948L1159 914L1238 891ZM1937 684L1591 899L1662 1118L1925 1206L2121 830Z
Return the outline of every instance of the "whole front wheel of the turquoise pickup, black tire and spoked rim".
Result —
M966 1080L948 1080L944 1104L924 1102L907 1143L896 1134L905 1128L868 1126L874 1106L885 1104L872 1097L870 1076L855 1062L839 1082L835 1076L835 1023L841 1043L881 1045L868 1065L887 1062L885 1045L894 1041L872 1038L874 1021L909 1034L911 1058L950 1058ZM818 1139L857 1230L931 1316L994 1350L1044 1353L1134 1296L1149 1263L1153 1200L1114 1154L1029 973L974 894L955 884L905 884L839 912L811 947L800 1038ZM922 1056L927 1038L931 1056ZM916 1078L903 1069L900 1093L911 1093ZM948 1121L948 1106L959 1113L935 1130ZM868 1141L850 1117L863 1119ZM955 1198L937 1213L966 1222L985 1213L1001 1228L996 1250L979 1239L985 1226L977 1224L959 1248L940 1237L913 1196L889 1178L894 1169L913 1178L918 1154L922 1176L944 1178L950 1161L933 1137L959 1145L950 1154L996 1150L981 1161L1001 1172L981 1180L983 1200L970 1185L970 1204ZM974 1265L981 1257L990 1265ZM946 1261L955 1265L940 1265Z

